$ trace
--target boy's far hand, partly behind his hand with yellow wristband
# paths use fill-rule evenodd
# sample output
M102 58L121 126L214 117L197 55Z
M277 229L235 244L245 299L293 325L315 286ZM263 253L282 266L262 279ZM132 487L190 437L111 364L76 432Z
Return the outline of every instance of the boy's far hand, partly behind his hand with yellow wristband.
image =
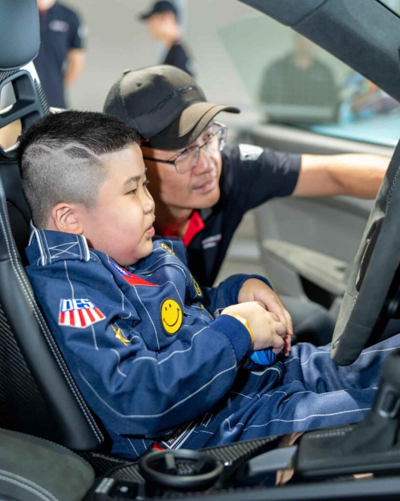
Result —
M241 286L237 300L239 303L259 301L263 304L264 308L268 310L268 312L274 313L280 322L286 324L291 334L293 334L291 317L282 300L261 280L246 280Z

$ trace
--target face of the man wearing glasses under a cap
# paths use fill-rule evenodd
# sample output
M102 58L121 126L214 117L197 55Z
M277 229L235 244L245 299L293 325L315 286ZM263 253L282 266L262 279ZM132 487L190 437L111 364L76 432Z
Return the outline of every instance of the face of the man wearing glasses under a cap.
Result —
M207 127L187 149L201 146L210 135ZM184 150L166 151L142 147L143 156L170 160ZM183 174L176 172L172 164L145 160L147 178L151 183L151 193L164 205L176 208L201 209L212 207L219 199L219 177L222 157L219 150L208 153L200 149L197 165Z

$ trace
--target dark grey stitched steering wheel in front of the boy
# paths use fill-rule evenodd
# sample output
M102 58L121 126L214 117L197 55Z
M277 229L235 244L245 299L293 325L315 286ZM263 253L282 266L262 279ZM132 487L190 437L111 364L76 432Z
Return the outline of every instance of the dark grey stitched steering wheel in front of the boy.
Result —
M336 364L353 363L368 340L381 334L388 296L397 290L399 263L400 142L369 214L341 303L330 352Z

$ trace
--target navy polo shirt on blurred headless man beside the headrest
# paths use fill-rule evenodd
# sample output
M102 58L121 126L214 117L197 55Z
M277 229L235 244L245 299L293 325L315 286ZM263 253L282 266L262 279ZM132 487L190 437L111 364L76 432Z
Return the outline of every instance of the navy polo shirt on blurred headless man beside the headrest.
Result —
M48 104L65 108L63 65L71 49L82 48L82 25L71 9L56 2L40 13L40 50L33 60Z

